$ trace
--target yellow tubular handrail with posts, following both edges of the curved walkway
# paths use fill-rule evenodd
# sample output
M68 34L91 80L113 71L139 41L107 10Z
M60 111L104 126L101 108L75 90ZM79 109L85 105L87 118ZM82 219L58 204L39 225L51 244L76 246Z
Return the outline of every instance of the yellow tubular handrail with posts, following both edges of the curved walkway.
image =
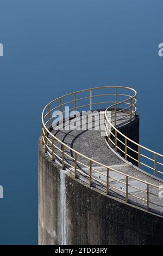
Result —
M112 92L108 93L107 92L107 93L93 94L93 92L96 92L96 91L99 91L99 90L105 90L105 91L107 91L107 90L115 90L115 93L112 93ZM122 93L122 92L119 93L118 90L124 90L125 92L124 93ZM126 91L127 91L127 93L126 93ZM87 93L87 92L89 93L88 96L84 95L82 98L77 98L78 95L80 95L82 93ZM130 95L130 94L132 94L132 95ZM112 100L112 99L108 100L108 97L114 97L114 96L115 96L114 100ZM147 188L149 186L151 186L152 188L159 189L160 187L158 185L156 185L156 184L152 184L152 183L149 183L147 181L143 181L140 178L136 178L134 176L131 176L131 175L128 175L128 174L124 174L124 172L118 171L115 168L111 168L110 166L104 165L102 163L97 162L96 160L93 160L92 158L89 158L89 157L85 156L84 154L74 150L72 147L68 146L67 144L65 144L64 142L59 140L57 138L57 136L55 136L50 131L50 128L52 127L52 120L53 120L52 111L54 109L62 110L62 106L65 106L66 104L73 103L74 105L73 105L73 107L71 109L74 109L74 110L82 109L82 108L87 108L87 107L89 107L89 109L92 110L92 106L95 106L97 104L104 104L104 103L108 104L109 102L110 103L114 103L114 104L110 105L108 108L105 108L105 112L104 112L104 115L105 115L106 138L108 138L110 146L114 145L115 146L115 151L119 151L119 152L121 151L121 153L124 153L124 158L126 160L128 160L128 158L129 159L133 158L128 153L128 148L130 150L135 151L137 153L138 159L133 158L133 160L135 160L135 161L137 160L139 167L140 167L140 165L145 164L145 163L142 163L141 160L140 160L140 156L143 155L143 154L140 153L140 148L143 148L143 149L145 149L145 150L147 150L149 152L154 153L154 160L152 158L151 158L151 160L154 161L154 166L155 166L154 167L154 174L156 176L157 171L160 173L160 171L156 169L156 166L157 166L157 164L162 164L162 163L156 162L156 157L155 156L157 155L157 156L161 156L162 157L162 155L158 154L158 153L156 153L154 151L148 150L148 148L143 147L140 144L134 142L133 140L128 138L126 135L124 135L122 132L120 132L120 130L117 127L117 122L120 121L120 120L123 120L122 118L118 118L118 113L121 113L121 112L122 113L126 113L126 115L124 117L126 118L126 117L129 116L130 117L129 118L129 122L133 121L133 118L135 118L136 110L137 110L136 109L136 103L137 103L136 96L137 96L137 92L134 89L126 87L126 86L102 86L102 87L95 87L95 88L85 89L85 90L82 90L82 91L76 91L76 92L68 93L68 94L65 94L64 96L58 97L58 98L52 100L50 103L48 103L45 106L45 108L43 109L43 112L42 112L42 136L41 136L42 137L42 144L45 146L45 152L49 153L51 155L52 160L59 159L60 160L60 164L62 165L62 169L68 168L68 166L71 167L71 169L74 170L74 177L75 178L77 178L77 174L82 174L85 177L89 178L90 186L92 186L92 182L93 181L96 181L98 183L103 184L103 186L106 187L106 194L109 194L111 190L112 191L116 190L116 193L121 194L121 196L123 195L123 197L124 197L124 195L125 195L124 198L126 198L126 202L127 203L131 203L131 202L129 202L129 196L134 197L134 198L137 197L137 196L135 196L133 194L131 195L128 192L128 187L129 186L132 187L128 183L129 179L141 182L141 183L145 184L147 186ZM69 97L73 97L73 99L70 100ZM98 97L107 97L107 100L103 100L102 102L93 102L93 99L97 99ZM120 100L119 99L118 100L118 97L120 97L120 99L121 99L121 97L127 97L127 99L124 99L124 100L122 100L122 99ZM63 102L63 100L65 100L66 98L68 98L68 101L67 102ZM81 100L86 100L86 99L89 100L89 102L87 104L79 105L79 106L77 105L78 102L80 102ZM59 102L59 105L57 105L55 107L52 106L52 105L54 105L55 103L58 103L58 102ZM122 108L123 104L124 105L128 105L128 107ZM117 106L120 107L120 108L117 108ZM114 111L112 109L114 109ZM129 110L127 110L127 109L129 109ZM114 115L114 120L113 121L109 120L108 111L110 111L110 113L111 113L110 116ZM64 113L64 111L62 111L62 113ZM47 118L47 121L45 121L45 118ZM114 123L114 125L112 123ZM110 126L110 130L108 128L109 126ZM52 139L49 139L49 135L51 136ZM121 135L121 137L122 137L121 140L118 138L118 135ZM124 140L124 141L122 141L122 140ZM57 145L55 145L55 141L58 141L58 143L61 145L61 148L59 148L59 147L57 147ZM137 146L138 147L138 151L136 151L135 148L133 149L131 145L129 147L127 145L128 141L130 141L131 144L133 144L134 146ZM121 147L120 147L119 144L122 144ZM123 147L124 147L124 151L122 149ZM74 157L68 155L65 152L66 148L74 153ZM61 152L61 156L55 152L56 149L59 150L59 152ZM71 158L74 161L74 165L68 163L65 156ZM79 162L78 156L83 157L86 160L88 160L89 161L89 165L83 163L82 161ZM147 158L149 158L149 157L147 156ZM97 177L95 178L92 175L92 170L98 173L98 170L96 170L96 167L92 168L92 163L96 164L98 166L101 166L101 167L106 169L106 175L105 175L106 176L106 181L105 182L102 182ZM83 172L83 170L77 169L77 164L82 164L83 166L88 168L89 169L89 174L85 174L85 172ZM111 184L109 184L110 171L114 171L117 174L121 174L121 175L126 177L126 182L123 182L123 183L126 184L126 192L124 190L122 190L122 189L116 188L115 186L111 186ZM137 188L137 189L140 190L140 191L142 190L141 188ZM145 197L146 199L145 198L140 198L140 197L138 197L138 198L141 200L142 204L143 204L144 201L146 201L146 203L147 203L146 207L147 207L147 210L149 211L150 210L149 209L149 203L151 203L151 202L149 202L149 194L150 194L149 189L143 190L143 192L145 192L147 194L147 197ZM158 195L155 195L155 196L158 197Z

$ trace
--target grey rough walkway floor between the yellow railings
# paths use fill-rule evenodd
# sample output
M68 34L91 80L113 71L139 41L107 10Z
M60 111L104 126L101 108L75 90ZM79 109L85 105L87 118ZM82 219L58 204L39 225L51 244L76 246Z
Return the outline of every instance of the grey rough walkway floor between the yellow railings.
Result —
M102 111L104 112L104 111ZM114 112L112 112L114 113ZM104 115L104 114L103 114ZM117 119L123 117L123 121L118 121L118 127L127 127L130 122L130 118L127 114L119 112L117 114ZM135 117L133 116L133 121L135 122ZM83 118L88 126L88 115ZM102 118L104 120L104 118ZM79 121L79 122L78 122ZM112 118L114 122L114 117ZM137 121L136 121L137 122ZM76 118L76 123L82 123L82 117ZM101 125L104 123L101 123ZM92 130L86 129L82 130L82 126L76 125L76 128L71 130L68 126L64 125L61 130L54 130L51 128L51 133L62 141L64 144L72 148L73 150L80 152L83 156L91 158L92 160L106 165L110 169L109 173L109 193L126 200L124 194L126 194L126 175L134 178L128 179L128 203L147 208L147 183L154 184L163 188L163 182L156 180L155 177L149 176L148 173L143 173L133 167L130 162L125 163L124 159L119 153L115 154L114 150L106 142L106 138L103 131L95 124L95 118L93 118ZM134 130L133 130L133 133ZM48 138L52 141L52 136L49 135ZM62 164L62 145L60 142L55 140L55 161L60 165ZM51 154L52 144L48 141L49 154ZM70 171L74 175L74 152L66 148L64 153L65 167L66 170ZM89 184L89 159L79 155L77 158L77 178ZM95 169L95 170L93 170ZM114 171L114 169L116 171ZM119 171L120 173L118 173ZM124 175L123 175L124 174ZM95 179L95 180L94 180ZM99 165L98 163L92 162L92 183L91 186L106 192L106 168ZM143 181L143 182L141 182ZM145 183L144 183L145 182ZM159 215L163 215L163 200L159 198L160 189L148 186L149 192L149 209Z

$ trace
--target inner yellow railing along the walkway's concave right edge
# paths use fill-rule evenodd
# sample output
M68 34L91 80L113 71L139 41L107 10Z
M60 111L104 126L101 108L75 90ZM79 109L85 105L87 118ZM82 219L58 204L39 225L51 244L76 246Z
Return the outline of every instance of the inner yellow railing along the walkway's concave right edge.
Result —
M123 120L123 118L126 118L126 116L119 118L117 116L118 112L123 113L127 111L130 122L132 121L133 117L136 115L136 102L137 100L135 92L133 97L128 96L127 100L112 104L105 110L106 136L108 137L108 142L111 146L114 146L115 151L119 151L126 160L135 162L135 165L137 165L141 170L145 170L149 174L162 178L163 155L131 140L120 132L117 127L117 122ZM106 113L110 109L114 109L114 112L108 116ZM117 111L117 109L120 110ZM114 120L112 120L113 118L110 118L113 115ZM136 157L133 157L133 153Z

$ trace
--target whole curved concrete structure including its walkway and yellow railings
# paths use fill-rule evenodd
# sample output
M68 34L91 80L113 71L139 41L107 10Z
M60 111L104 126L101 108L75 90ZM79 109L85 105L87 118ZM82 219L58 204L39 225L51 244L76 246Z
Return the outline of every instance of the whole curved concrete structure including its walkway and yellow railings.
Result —
M163 155L139 142L137 93L73 92L42 112L40 245L162 245Z

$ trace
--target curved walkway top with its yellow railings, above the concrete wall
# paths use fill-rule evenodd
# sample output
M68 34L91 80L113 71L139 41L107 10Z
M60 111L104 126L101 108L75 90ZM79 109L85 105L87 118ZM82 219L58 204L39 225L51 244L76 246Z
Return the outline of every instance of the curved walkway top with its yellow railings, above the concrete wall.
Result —
M120 197L126 203L138 204L147 211L162 215L160 195L163 194L163 183L156 178L163 174L163 155L136 143L118 129L126 123L130 124L136 117L136 98L136 91L125 86L90 88L56 98L42 112L42 144L45 153L50 154L62 169L72 172L75 178L106 194ZM66 116L65 106L70 111L80 112L104 108L104 134L109 145L114 146L115 151L122 152L126 162L108 148L104 136L96 127L84 131L77 127L72 130L53 130L55 111L59 112L59 117ZM128 158L134 160L141 169L131 166L127 162ZM151 171L153 177L141 172L146 169L149 173Z

